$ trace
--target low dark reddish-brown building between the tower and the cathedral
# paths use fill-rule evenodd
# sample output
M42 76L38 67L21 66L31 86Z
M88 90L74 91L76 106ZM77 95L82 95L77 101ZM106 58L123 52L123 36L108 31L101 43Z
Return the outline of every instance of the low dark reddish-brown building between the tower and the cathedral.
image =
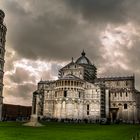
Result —
M3 104L2 108L3 121L29 120L30 115L31 115L31 106Z

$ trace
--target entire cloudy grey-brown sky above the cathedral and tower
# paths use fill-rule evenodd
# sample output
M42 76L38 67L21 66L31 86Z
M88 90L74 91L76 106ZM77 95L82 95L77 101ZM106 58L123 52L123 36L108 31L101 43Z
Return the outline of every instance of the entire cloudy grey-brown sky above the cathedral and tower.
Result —
M31 105L40 79L84 49L98 76L135 74L140 90L139 0L0 0L8 28L4 102Z

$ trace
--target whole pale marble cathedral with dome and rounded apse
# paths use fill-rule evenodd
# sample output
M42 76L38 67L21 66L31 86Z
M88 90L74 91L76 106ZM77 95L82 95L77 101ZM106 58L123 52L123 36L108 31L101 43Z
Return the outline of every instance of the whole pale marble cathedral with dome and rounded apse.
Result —
M57 120L138 122L140 93L135 77L97 77L97 68L81 56L61 68L55 81L40 81L33 92L32 115Z

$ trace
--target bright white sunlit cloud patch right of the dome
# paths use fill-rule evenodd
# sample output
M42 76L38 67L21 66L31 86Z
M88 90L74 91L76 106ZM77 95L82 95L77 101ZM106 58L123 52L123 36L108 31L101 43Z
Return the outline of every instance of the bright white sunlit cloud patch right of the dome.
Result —
M137 35L138 32L131 23L118 27L107 25L105 31L101 33L101 42L105 52L103 58L107 60L107 66L115 67L119 65L124 70L129 69L123 49L134 47L132 37Z

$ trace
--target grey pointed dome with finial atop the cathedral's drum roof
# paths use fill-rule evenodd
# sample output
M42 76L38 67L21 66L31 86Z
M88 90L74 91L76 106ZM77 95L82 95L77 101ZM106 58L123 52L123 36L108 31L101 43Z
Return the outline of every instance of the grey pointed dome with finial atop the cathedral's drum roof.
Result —
M76 64L88 64L88 65L92 65L91 62L90 62L90 60L85 56L86 53L84 51L81 53L81 55L82 56L77 59Z

